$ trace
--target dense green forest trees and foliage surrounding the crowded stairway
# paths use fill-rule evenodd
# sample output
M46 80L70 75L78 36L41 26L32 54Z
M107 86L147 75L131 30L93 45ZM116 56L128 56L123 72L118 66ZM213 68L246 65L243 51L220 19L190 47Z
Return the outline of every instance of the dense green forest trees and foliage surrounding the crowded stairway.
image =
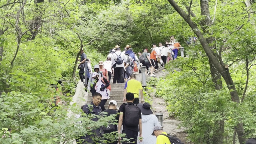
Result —
M71 143L86 125L106 124L67 117L81 111L68 105L80 49L93 66L115 45L137 53L174 36L186 57L155 80L156 94L193 142L244 144L256 135L255 11L254 0L0 1L0 143ZM65 103L52 108L58 80Z

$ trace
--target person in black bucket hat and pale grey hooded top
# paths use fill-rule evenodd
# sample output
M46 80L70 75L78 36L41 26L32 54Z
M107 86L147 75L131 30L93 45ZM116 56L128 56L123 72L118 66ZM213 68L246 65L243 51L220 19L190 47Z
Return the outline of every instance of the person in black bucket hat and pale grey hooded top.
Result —
M141 110L141 121L142 121L142 137L143 141L137 141L137 144L156 144L156 137L151 135L154 131L154 127L159 125L158 119L153 115L150 110L151 105L147 102L139 103L137 105Z

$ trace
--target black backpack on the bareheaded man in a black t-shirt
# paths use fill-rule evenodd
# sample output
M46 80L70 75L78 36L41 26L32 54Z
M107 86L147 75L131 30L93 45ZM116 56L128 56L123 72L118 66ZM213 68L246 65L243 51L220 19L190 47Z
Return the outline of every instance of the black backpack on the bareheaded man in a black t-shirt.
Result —
M125 103L125 125L138 126L140 120L140 108L137 105L129 105Z

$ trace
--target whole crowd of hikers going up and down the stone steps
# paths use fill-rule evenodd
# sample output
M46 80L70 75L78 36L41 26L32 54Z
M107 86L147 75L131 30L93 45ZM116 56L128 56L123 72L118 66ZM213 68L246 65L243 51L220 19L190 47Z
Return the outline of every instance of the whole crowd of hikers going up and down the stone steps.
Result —
M196 39L193 38L193 42L195 41ZM159 42L158 46L152 44L151 53L148 49L143 49L138 52L138 57L130 45L125 46L124 51L121 51L119 46L115 46L110 50L106 61L99 61L94 65L93 71L91 60L86 58L86 54L82 50L79 59L79 76L82 82L87 80L87 91L91 92L92 101L81 108L85 114L115 116L118 123L109 123L107 126L95 128L93 134L79 136L76 140L77 143L101 143L100 140L104 139L104 133L114 135L113 132L116 132L124 134L124 137L119 137L116 140L105 138L106 144L183 144L179 138L164 132L163 127L159 125L158 118L150 109L151 105L144 102L141 82L136 80L134 74L134 72L138 72L138 67L141 64L146 67L145 74L154 77L155 71L159 67L165 67L167 62L177 59L178 50L182 47L174 39L174 36L170 37L170 42L165 42L164 45ZM87 62L87 68L85 68L85 62ZM85 72L87 77L83 75ZM125 83L124 103L118 107L117 102L111 100L108 104L109 109L106 110L104 105L110 98L111 77L113 77L113 83ZM141 99L139 99L139 95ZM98 117L92 118L92 120L97 122ZM255 141L255 139L250 139L250 141Z

